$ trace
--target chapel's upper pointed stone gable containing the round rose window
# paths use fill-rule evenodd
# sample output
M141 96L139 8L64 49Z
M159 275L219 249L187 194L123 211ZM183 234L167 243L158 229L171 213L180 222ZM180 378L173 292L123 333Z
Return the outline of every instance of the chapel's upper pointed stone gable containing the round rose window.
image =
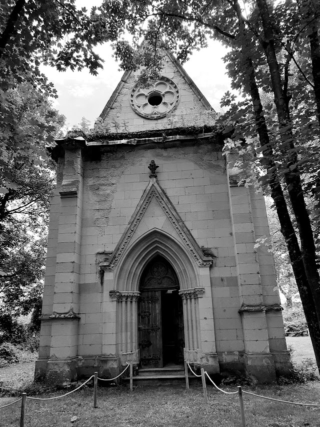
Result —
M138 132L201 126L213 111L174 56L165 52L161 79L149 88L137 83L139 72L126 71L100 114L110 132Z

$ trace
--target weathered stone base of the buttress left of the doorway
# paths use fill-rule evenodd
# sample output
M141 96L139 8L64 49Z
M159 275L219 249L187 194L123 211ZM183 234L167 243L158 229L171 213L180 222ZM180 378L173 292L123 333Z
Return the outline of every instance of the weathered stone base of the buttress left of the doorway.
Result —
M46 364L45 382L62 384L76 380L78 357L65 359L48 359Z

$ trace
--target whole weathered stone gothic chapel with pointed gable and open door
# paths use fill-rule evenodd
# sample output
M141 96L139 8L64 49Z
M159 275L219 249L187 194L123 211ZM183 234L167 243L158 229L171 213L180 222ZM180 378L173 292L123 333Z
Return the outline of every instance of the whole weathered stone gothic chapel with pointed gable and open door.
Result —
M57 140L35 377L179 367L272 381L291 365L263 195L238 186L205 97L165 53L144 88L127 71L109 132ZM191 126L192 125L192 126Z

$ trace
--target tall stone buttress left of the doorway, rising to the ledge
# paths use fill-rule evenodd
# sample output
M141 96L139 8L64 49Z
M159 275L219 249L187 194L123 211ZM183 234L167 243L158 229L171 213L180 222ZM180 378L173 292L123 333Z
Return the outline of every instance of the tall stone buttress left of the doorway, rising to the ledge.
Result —
M46 374L48 382L76 378L83 192L81 147L84 144L84 141L73 140L63 145L65 154L60 187L53 314L49 316L52 339Z

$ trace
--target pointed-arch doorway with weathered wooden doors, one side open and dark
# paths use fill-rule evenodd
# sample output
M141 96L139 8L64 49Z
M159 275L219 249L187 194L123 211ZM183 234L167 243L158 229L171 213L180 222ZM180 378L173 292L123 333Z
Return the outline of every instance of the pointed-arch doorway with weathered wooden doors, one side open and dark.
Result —
M141 274L139 290L141 367L183 364L183 307L179 281L171 264L162 256L155 256Z

